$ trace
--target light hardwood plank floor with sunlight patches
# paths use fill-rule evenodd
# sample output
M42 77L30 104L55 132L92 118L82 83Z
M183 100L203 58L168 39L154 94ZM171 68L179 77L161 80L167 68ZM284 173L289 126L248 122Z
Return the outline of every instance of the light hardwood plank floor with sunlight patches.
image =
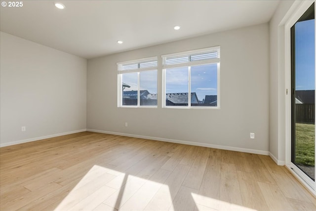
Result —
M316 210L270 157L94 132L0 149L0 210Z

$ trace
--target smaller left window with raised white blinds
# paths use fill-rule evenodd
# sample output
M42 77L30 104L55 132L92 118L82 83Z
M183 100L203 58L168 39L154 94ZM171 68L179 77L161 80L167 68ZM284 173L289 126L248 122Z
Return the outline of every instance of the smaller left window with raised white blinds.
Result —
M157 107L157 57L118 63L118 107Z

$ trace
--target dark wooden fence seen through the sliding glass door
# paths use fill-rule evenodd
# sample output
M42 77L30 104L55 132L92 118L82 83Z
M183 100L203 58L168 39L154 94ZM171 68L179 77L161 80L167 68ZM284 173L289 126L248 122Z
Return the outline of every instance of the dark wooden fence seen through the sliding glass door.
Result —
M296 104L297 123L315 123L315 104Z

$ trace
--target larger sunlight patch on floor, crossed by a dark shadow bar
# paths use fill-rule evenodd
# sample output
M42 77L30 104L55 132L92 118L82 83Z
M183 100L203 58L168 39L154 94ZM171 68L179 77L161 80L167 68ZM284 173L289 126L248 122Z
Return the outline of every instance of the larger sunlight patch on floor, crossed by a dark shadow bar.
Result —
M163 196L153 200L160 190ZM167 185L94 165L69 192L55 211L94 210L111 207L113 210L144 210L147 205L172 204Z

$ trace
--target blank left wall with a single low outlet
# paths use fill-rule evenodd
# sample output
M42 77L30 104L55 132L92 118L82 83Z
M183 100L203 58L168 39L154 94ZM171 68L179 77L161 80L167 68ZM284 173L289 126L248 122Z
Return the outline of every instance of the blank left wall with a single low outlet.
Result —
M0 45L1 146L86 128L86 59L3 32Z

